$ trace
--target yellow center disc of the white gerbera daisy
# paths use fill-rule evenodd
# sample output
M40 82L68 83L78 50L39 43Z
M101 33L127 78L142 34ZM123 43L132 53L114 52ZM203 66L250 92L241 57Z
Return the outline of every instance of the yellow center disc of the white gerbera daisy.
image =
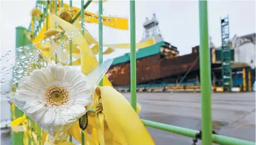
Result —
M68 90L64 87L53 85L45 91L44 99L51 106L60 106L68 102Z

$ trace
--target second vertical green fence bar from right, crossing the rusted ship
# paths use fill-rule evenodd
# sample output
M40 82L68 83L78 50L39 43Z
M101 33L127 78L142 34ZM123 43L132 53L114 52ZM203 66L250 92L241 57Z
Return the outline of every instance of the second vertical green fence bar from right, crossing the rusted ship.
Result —
M135 1L130 1L130 39L131 39L131 106L136 111L136 27L135 27Z

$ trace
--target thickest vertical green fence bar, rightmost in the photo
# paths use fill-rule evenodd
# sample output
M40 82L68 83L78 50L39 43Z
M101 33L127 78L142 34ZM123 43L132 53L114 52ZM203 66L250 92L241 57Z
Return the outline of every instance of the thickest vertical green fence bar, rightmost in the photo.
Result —
M208 46L208 11L207 1L199 1L200 25L200 84L201 84L201 113L203 145L212 144L212 116L211 116L211 64Z

